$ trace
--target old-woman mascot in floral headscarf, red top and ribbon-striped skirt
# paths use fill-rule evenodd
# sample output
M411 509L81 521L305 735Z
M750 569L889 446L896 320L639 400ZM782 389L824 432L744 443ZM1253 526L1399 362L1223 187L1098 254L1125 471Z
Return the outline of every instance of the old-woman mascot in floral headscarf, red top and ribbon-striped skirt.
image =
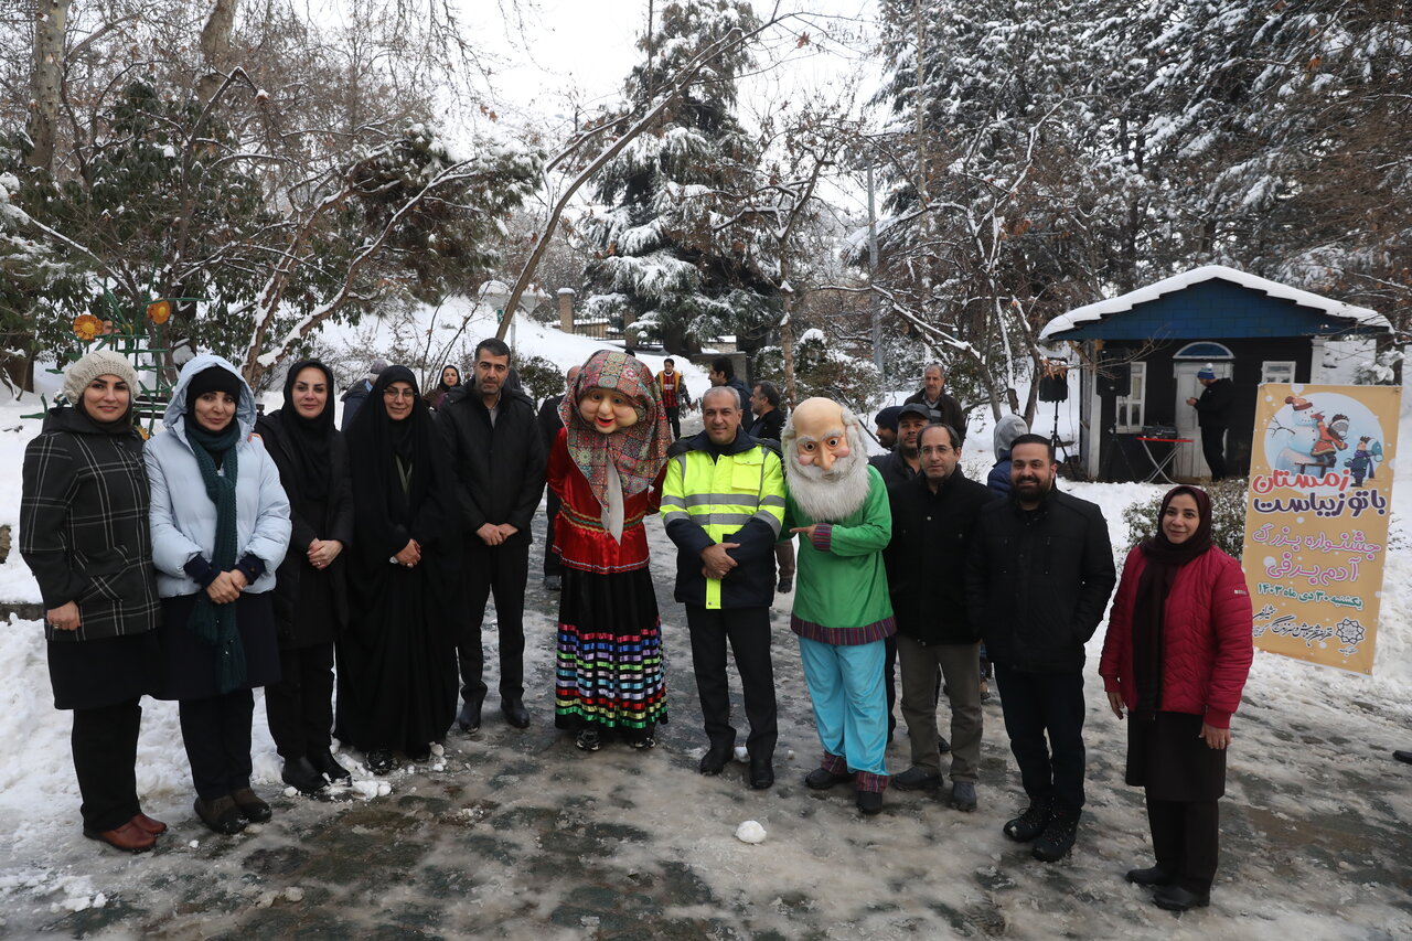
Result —
M657 513L671 435L652 372L602 350L559 407L549 452L563 564L554 723L596 752L617 732L637 749L666 722L662 626L642 517Z

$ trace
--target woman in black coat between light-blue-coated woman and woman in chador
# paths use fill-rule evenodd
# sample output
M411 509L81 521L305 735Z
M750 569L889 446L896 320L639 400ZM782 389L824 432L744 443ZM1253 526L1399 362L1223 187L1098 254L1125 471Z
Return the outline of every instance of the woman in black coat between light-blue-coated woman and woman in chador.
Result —
M280 682L265 687L265 712L282 777L305 794L349 780L330 754L333 641L347 626L343 551L353 541L353 479L333 427L333 372L318 360L289 369L284 408L261 415L261 437L289 497L289 551L275 571Z

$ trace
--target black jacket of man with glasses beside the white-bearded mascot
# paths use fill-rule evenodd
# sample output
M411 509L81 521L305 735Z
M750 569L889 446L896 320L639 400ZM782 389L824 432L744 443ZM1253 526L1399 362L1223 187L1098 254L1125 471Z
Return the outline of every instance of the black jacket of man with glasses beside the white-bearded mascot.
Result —
M960 468L936 493L919 473L887 495L892 541L882 561L898 633L922 646L976 643L980 634L966 613L966 554L980 511L1000 496Z

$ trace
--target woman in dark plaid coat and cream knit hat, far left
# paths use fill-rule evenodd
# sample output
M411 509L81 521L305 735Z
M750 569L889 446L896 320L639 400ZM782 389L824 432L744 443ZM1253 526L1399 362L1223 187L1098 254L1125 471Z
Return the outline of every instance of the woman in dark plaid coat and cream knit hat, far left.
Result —
M143 812L134 766L143 694L157 682L157 579L137 373L95 350L68 367L24 452L20 554L44 596L54 706L73 711L83 835L151 849L167 824Z

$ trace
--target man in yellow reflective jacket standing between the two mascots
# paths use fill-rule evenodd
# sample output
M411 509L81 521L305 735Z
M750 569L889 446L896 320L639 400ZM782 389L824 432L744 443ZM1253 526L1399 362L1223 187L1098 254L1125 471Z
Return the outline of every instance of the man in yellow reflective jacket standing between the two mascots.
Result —
M779 455L740 427L740 398L720 386L700 400L705 431L678 441L666 462L662 521L676 544L676 600L686 606L692 667L709 747L702 774L720 774L736 747L726 641L746 695L750 786L775 783L775 674L770 605L775 540L785 514Z

